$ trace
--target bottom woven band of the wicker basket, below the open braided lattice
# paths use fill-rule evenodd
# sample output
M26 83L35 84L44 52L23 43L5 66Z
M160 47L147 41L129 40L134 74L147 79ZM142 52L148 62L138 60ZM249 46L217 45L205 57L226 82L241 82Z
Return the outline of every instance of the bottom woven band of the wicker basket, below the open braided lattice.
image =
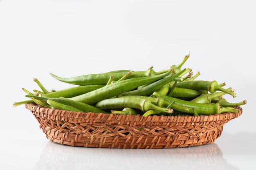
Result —
M160 148L182 148L191 146L201 146L211 144L220 137L223 126L207 130L193 136L185 133L178 135L139 135L138 137L84 137L78 134L68 134L58 132L58 130L44 130L44 133L50 141L58 144L92 147L92 148L135 148L135 149L160 149ZM70 140L72 139L72 140Z

